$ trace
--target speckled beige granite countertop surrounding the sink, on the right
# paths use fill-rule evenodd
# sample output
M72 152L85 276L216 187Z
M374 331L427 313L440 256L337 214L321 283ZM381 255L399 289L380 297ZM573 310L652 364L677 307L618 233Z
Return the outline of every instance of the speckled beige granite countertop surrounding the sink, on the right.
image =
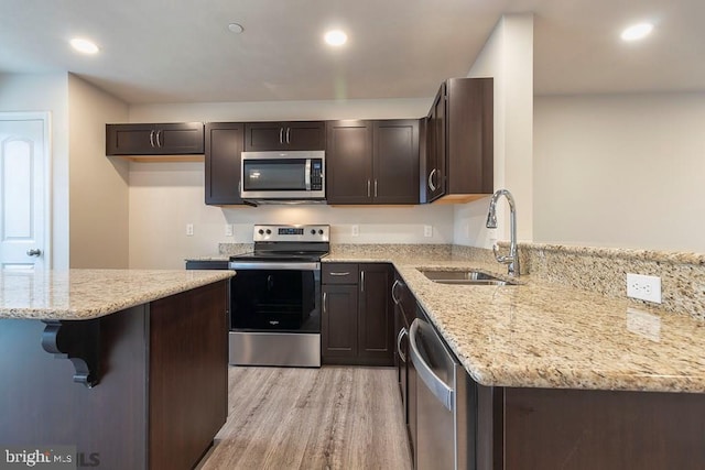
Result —
M468 373L482 385L705 392L705 321L545 280L518 286L433 283L419 269L498 263L360 249L324 262L390 262Z

